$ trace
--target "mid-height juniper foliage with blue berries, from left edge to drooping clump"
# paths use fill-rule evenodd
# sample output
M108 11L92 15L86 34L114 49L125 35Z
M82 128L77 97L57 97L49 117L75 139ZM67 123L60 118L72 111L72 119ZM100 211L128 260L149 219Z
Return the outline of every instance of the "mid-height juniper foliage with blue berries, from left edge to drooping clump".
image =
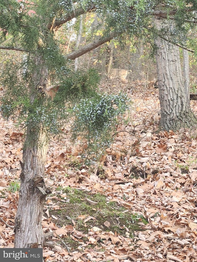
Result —
M7 66L13 65L8 62L1 76L6 90L0 106L4 118L17 117L26 128L36 132L42 129L47 139L60 134L72 118L72 139L82 136L83 142L88 144L89 154L104 150L112 141L117 118L128 109L129 100L121 93L115 96L99 94L97 86L100 78L94 69L70 71L66 77L62 76L54 99L45 94L37 96L32 103L26 82L18 78L16 65L10 70ZM30 138L29 143L34 139Z

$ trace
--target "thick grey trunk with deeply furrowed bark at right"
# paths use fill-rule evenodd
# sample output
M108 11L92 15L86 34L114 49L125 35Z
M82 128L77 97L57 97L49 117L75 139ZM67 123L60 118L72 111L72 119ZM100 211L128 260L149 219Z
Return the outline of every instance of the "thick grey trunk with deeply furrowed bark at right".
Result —
M197 118L191 111L185 95L179 48L160 37L155 40L159 101L161 106L160 126L164 130L179 130L196 125Z

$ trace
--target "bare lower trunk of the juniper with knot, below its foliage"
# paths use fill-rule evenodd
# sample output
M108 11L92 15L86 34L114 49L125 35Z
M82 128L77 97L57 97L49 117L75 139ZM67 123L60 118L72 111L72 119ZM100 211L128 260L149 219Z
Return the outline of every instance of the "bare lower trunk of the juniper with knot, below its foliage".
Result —
M32 136L31 130L27 131ZM15 218L14 248L42 248L42 212L46 194L44 166L47 152L45 135L40 133L38 146L26 147L21 162L21 187L19 191L18 210Z

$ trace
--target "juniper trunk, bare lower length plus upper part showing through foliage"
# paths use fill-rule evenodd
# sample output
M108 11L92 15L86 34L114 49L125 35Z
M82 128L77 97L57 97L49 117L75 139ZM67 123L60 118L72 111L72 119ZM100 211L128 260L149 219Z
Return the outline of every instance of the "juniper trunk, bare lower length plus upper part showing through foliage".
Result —
M43 100L42 96L45 95L48 85L48 71L42 57L35 57L34 64L36 69L29 86L32 104L35 99ZM42 123L36 128L34 122L31 124L30 120L21 162L21 187L15 218L14 248L41 248L43 246L42 213L46 195L50 193L44 182L46 152L47 140Z

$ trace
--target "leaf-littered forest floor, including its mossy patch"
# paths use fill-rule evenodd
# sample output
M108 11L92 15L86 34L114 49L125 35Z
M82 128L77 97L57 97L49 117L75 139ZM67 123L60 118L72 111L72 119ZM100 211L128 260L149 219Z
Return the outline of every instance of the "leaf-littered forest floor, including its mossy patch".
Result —
M159 131L158 89L126 91L131 121L87 167L69 135L50 142L42 219L45 261L197 261L197 132ZM191 102L197 113L197 101ZM0 119L0 245L14 246L23 132ZM65 130L66 133L66 130ZM3 220L3 221L2 221Z

